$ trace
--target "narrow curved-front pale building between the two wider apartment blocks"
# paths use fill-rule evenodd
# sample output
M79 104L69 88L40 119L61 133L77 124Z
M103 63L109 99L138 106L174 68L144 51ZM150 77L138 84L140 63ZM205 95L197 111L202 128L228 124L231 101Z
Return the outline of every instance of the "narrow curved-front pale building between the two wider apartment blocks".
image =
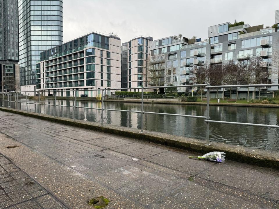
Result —
M150 59L152 37L137 36L122 44L121 87L137 88L148 86L147 63ZM141 91L133 89L128 91Z

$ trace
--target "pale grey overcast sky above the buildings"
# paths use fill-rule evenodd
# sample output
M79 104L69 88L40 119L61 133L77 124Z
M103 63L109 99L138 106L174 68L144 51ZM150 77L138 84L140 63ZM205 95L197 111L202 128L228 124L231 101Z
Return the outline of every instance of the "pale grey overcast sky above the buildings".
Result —
M208 26L244 21L272 26L279 0L64 0L64 42L91 31L116 33L121 43L181 33L206 39Z

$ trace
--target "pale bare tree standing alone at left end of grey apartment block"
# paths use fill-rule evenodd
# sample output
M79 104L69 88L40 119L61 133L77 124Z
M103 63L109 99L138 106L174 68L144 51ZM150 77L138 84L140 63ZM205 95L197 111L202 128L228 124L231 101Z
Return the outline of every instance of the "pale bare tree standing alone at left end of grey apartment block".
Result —
M147 62L147 80L149 85L160 87L164 86L167 72L165 71L165 55L157 55L149 58ZM156 88L157 93L159 88Z

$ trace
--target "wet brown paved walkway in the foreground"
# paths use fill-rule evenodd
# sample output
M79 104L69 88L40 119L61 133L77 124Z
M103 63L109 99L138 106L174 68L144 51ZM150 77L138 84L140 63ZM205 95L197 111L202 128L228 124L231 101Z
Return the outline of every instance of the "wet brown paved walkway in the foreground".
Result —
M276 170L2 111L0 153L0 208L279 208Z

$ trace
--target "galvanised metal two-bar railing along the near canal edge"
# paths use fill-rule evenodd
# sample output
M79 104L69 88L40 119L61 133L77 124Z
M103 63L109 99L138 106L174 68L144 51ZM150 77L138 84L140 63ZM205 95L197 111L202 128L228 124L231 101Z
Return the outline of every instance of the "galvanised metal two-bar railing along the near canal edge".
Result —
M28 111L28 104L32 104L32 105L39 105L39 114L41 114L40 111L40 105L47 105L47 106L53 106L54 107L54 117L56 117L56 107L73 107L74 108L74 116L73 119L76 120L76 109L77 108L84 108L84 109L94 109L94 110L101 110L101 126L103 126L104 124L104 117L103 117L103 112L104 111L119 111L119 112L132 112L132 113L140 113L141 114L141 133L143 133L144 130L144 125L143 125L143 115L144 114L156 114L156 115L166 115L166 116L179 116L179 117L189 117L189 118L200 118L200 119L204 119L205 123L206 123L206 146L209 146L209 124L210 123L222 123L222 124L233 124L233 125L247 125L247 126L257 126L257 127L269 127L269 128L279 128L278 125L267 125L267 124L256 124L256 123L244 123L244 122L231 122L231 121L221 121L221 120L210 120L210 89L216 89L216 88L239 88L239 87L273 87L273 86L279 86L279 84L250 84L250 85L223 85L223 86L210 86L210 84L197 84L197 85L181 85L181 86L176 86L176 87L204 87L206 90L206 97L207 97L207 104L206 104L206 116L196 116L196 115L183 115L183 114L170 114L170 113L159 113L159 112L148 112L148 111L144 111L144 89L157 89L157 87L141 87L141 88L115 88L115 89L92 89L90 91L97 91L96 92L96 98L100 98L101 99L101 108L93 108L93 107L81 107L81 106L77 106L77 102L76 102L76 98L78 91L82 91L81 94L83 92L85 92L86 90L62 90L62 91L53 91L55 92L55 100L54 100L54 104L43 104L40 103L40 97L41 94L44 95L45 93L48 93L49 91L37 91L36 93L38 93L38 103L30 103L27 100L27 93L28 92L32 92L34 93L34 91L24 91L23 93L25 93L25 102L19 102L18 100L18 95L21 92L3 92L0 93L2 94L2 107L4 107L4 94L8 95L8 105L7 107L9 109L11 109L11 102L15 103L15 109L18 109L19 107L19 103L23 103L26 104L26 111ZM172 86L164 86L164 87L160 87L160 88L171 88ZM104 98L105 98L105 93L110 90L110 91L116 91L116 90L133 90L133 89L138 89L141 90L141 111L133 111L133 110L120 110L120 109L107 109L104 108ZM74 105L57 105L56 104L56 99L57 99L57 94L58 92L73 92L74 91ZM12 101L11 100L11 95L15 94L15 100ZM70 95L68 95L70 96ZM68 97L67 96L67 97ZM92 95L91 95L92 96ZM126 95L128 96L128 95ZM121 96L120 96L121 97ZM124 96L123 96L124 97ZM122 97L122 98L123 98Z

